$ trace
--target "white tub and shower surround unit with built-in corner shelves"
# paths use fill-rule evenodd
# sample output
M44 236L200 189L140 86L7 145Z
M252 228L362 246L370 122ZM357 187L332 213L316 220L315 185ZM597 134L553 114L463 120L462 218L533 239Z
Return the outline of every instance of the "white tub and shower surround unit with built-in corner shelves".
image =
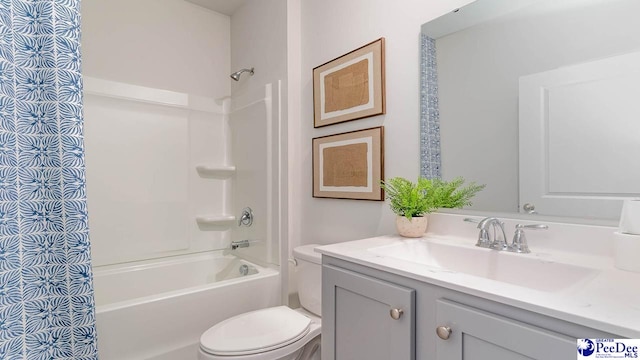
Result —
M212 324L279 304L274 103L270 84L216 101L86 78L101 359L185 359Z

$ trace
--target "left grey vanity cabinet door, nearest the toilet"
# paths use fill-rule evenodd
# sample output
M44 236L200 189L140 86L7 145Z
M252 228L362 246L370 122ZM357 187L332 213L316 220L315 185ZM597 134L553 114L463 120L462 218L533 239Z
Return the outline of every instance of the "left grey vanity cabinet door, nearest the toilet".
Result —
M413 289L325 265L322 301L323 360L415 358Z

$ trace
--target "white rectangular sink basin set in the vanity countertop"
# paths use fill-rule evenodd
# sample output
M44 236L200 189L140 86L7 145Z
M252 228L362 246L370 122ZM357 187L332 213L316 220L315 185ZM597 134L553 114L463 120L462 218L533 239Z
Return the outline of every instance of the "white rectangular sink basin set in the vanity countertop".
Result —
M469 245L431 240L403 240L370 248L370 252L530 289L554 292L576 286L597 274L596 269Z

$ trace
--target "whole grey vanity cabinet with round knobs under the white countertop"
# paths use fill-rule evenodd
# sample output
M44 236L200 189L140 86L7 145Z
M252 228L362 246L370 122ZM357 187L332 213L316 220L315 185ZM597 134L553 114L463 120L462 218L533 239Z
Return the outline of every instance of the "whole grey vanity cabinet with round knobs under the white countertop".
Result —
M322 258L323 360L573 359L576 339L621 338L327 255Z

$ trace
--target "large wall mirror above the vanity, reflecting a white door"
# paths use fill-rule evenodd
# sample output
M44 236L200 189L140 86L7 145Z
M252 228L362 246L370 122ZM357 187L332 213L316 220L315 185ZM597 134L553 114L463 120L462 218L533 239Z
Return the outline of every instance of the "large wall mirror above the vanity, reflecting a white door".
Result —
M638 13L637 0L477 0L424 24L437 79L427 69L421 93L437 91L426 112L439 113L440 154L423 147L423 174L439 155L443 178L487 184L471 210L617 219L621 199L640 197ZM422 101L425 113L434 101Z

